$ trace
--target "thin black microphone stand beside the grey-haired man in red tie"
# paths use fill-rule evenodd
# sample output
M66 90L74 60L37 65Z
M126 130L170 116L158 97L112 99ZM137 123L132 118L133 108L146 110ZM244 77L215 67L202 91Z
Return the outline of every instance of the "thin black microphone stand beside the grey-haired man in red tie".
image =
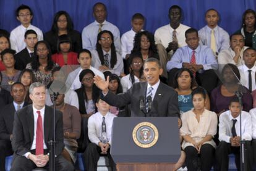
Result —
M59 93L53 93L51 97L53 99L53 140L48 141L50 150L49 150L49 170L55 171L55 111L56 111L56 99L58 98Z

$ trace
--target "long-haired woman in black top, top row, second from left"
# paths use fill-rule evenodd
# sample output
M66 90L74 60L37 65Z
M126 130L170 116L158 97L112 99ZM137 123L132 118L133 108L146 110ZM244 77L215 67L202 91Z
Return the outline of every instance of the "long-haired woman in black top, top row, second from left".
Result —
M70 49L74 52L79 52L82 49L82 39L79 31L74 30L74 25L70 15L60 10L54 15L53 25L51 30L45 33L45 40L51 47L51 52L55 54L57 52L57 41L59 36L69 35L71 38Z

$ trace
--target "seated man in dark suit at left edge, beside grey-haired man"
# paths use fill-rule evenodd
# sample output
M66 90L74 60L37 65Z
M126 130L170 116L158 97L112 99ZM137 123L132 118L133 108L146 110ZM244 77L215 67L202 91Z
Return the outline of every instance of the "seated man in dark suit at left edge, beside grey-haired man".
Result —
M24 102L25 87L22 83L16 82L11 86L11 95L14 101L2 107L0 112L0 170L5 170L6 156L13 153L11 141L14 113L27 106Z

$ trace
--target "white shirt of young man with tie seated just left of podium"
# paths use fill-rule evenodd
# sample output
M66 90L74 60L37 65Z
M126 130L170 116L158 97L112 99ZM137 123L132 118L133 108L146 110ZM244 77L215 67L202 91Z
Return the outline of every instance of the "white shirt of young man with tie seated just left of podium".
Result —
M108 112L105 116L106 122L106 134L108 138L108 143L111 144L111 137L112 137L112 126L113 120L116 115L111 114ZM102 132L102 121L103 115L100 112L96 112L88 119L88 137L92 143L98 145L100 142L101 132Z

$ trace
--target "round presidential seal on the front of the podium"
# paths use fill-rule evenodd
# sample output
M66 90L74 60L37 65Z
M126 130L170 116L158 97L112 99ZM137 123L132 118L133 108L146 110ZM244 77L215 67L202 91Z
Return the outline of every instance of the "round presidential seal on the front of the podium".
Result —
M134 143L141 148L150 148L158 140L158 129L150 122L140 122L132 131Z

